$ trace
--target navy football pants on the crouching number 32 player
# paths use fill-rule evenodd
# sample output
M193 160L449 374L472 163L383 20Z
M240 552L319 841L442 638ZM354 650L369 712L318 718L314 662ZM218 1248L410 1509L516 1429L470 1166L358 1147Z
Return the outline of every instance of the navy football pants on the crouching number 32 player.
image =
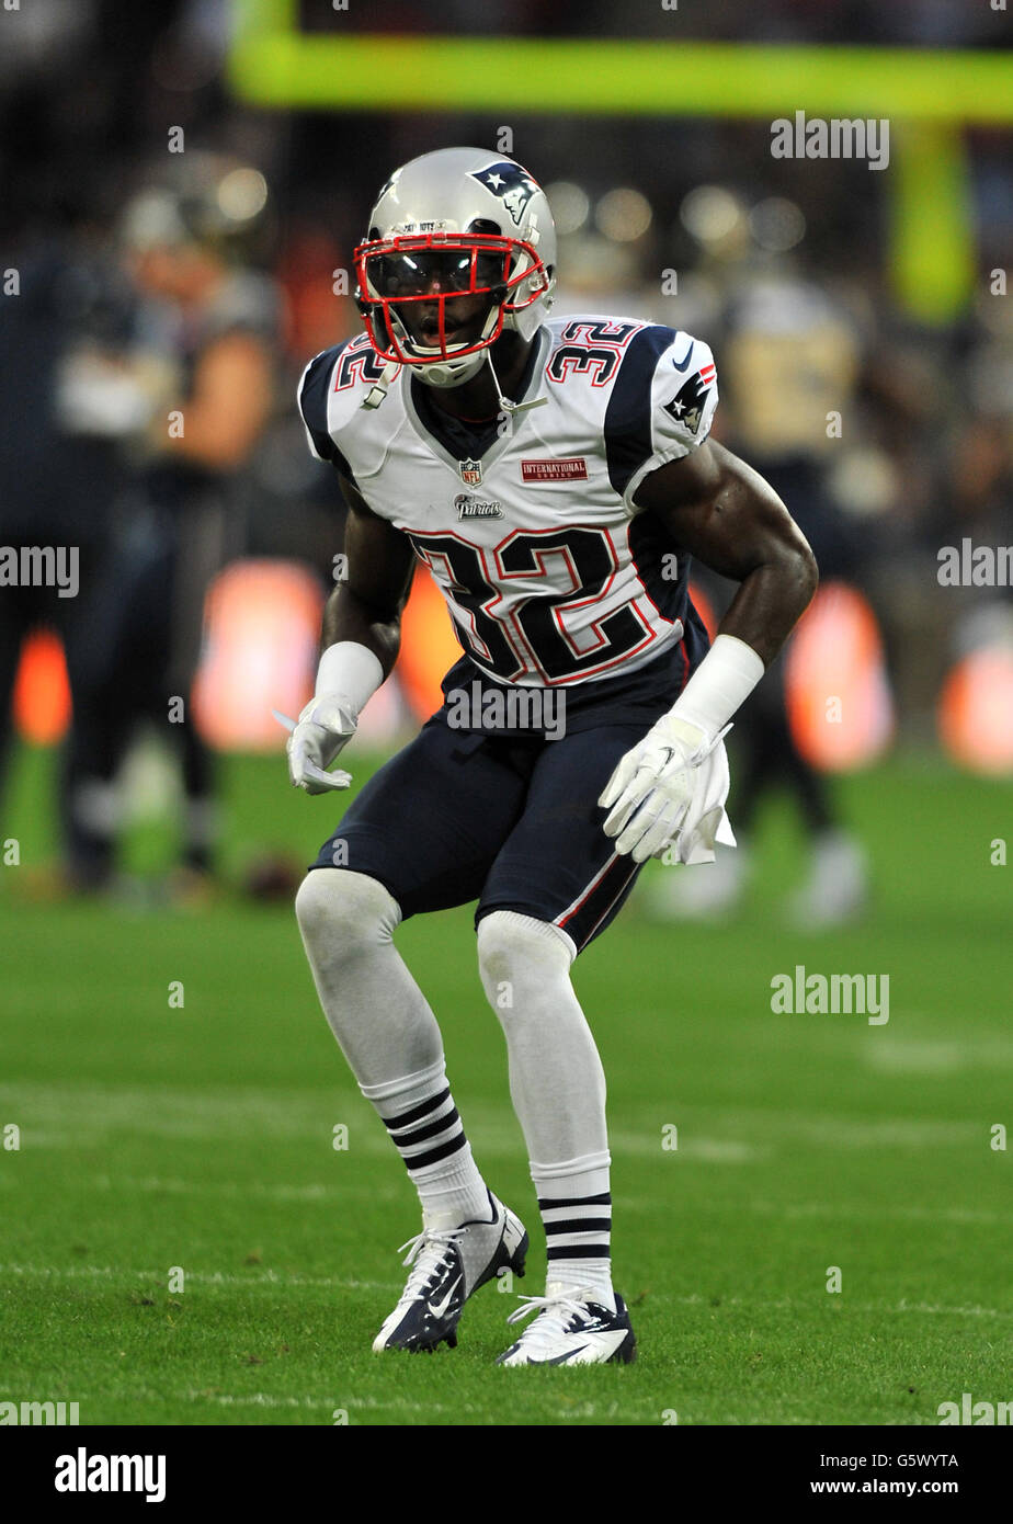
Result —
M544 741L451 730L430 719L376 773L312 867L378 879L402 916L478 901L550 920L588 945L626 901L640 864L618 856L597 805L647 725Z

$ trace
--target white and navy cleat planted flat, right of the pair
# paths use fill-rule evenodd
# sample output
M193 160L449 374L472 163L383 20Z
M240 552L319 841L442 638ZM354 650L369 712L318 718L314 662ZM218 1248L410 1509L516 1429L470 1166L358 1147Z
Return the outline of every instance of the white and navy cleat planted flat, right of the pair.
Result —
M522 1297L507 1323L536 1312L516 1344L497 1356L497 1366L629 1366L637 1340L626 1303L615 1292L615 1312L596 1301L597 1292L550 1286L550 1295Z

